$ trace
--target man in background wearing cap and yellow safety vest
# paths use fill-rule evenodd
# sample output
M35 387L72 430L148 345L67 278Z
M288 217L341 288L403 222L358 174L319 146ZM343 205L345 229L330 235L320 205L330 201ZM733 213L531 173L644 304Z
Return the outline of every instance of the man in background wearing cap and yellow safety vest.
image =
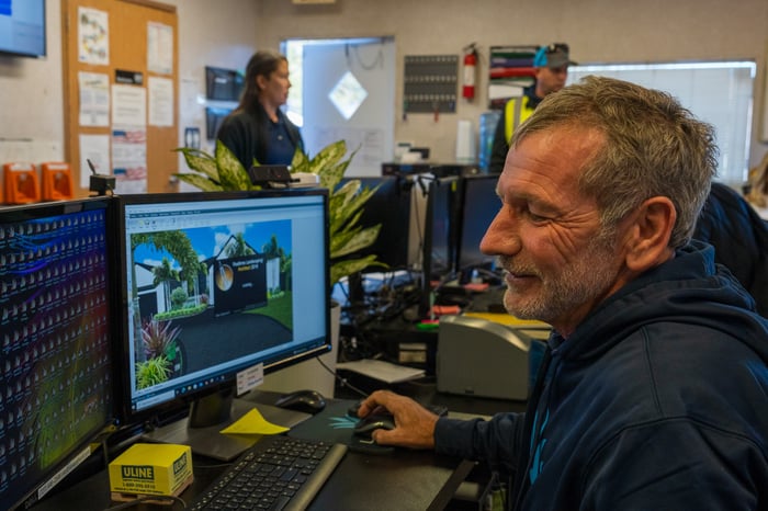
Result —
M494 145L490 150L490 173L500 173L504 161L509 151L509 140L515 128L531 116L541 100L552 92L557 92L565 87L568 78L568 66L576 63L571 60L568 45L565 43L552 43L542 46L533 57L535 82L523 90L520 98L507 101L501 117L496 125Z

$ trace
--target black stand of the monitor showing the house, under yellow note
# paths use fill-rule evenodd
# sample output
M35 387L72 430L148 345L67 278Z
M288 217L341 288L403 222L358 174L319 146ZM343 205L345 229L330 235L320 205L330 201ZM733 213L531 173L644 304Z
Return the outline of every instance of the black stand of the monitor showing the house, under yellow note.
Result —
M189 417L146 432L140 439L146 442L189 445L194 454L230 462L258 442L261 435L224 434L221 431L253 408L258 408L261 416L269 422L285 428L293 428L312 417L309 413L231 398L231 396L225 396L222 401L225 407L229 405L228 417L221 417L226 413L222 413L221 410L212 411L216 408L214 404L216 399L222 400L222 396L214 394L201 398L191 408ZM219 420L212 425L195 425L206 421L211 423L212 418Z

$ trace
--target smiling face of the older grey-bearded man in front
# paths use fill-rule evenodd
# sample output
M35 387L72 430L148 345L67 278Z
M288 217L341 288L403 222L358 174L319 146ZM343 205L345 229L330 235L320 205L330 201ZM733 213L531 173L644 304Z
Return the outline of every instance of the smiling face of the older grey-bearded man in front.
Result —
M497 192L501 208L481 241L506 270L505 306L568 336L621 283L614 237L603 235L594 198L577 179L603 144L595 130L555 128L509 151Z

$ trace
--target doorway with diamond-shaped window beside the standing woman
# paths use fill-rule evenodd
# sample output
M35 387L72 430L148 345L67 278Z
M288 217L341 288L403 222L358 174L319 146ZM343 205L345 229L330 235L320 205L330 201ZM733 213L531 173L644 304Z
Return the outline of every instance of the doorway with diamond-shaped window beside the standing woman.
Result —
M357 151L346 175L381 175L394 155L395 39L287 39L286 114L312 157L343 139Z

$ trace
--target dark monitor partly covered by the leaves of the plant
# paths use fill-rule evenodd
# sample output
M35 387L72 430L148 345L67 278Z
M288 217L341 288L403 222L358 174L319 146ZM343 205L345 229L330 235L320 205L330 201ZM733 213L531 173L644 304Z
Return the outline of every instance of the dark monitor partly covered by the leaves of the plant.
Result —
M359 225L371 227L381 224L379 238L365 249L350 254L357 259L372 253L377 260L389 266L389 270L402 270L408 266L408 234L410 229L410 192L413 183L403 177L381 175L376 178L345 178L339 183L343 186L350 180L360 180L361 186L376 192L364 204ZM371 271L381 272L382 266L371 266Z

